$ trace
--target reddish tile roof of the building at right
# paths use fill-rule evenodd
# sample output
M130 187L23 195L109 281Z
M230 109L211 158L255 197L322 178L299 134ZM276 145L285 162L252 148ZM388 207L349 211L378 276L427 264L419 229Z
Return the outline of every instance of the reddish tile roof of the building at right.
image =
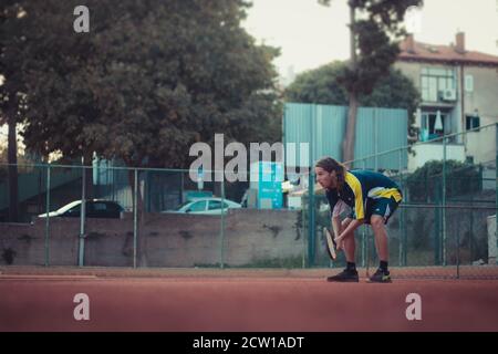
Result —
M453 62L458 64L481 64L498 66L498 56L485 54L474 51L465 51L459 53L450 45L434 45L413 41L414 50L408 51L408 42L406 39L400 43L401 61L421 61L421 62Z

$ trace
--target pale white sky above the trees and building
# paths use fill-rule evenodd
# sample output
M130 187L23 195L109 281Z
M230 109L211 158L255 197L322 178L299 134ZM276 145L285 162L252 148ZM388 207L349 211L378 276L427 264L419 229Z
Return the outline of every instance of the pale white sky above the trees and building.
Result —
M498 0L425 0L415 40L449 45L465 32L467 50L498 55ZM349 58L347 0L329 8L317 0L252 0L242 23L258 41L281 49L274 64L282 76Z

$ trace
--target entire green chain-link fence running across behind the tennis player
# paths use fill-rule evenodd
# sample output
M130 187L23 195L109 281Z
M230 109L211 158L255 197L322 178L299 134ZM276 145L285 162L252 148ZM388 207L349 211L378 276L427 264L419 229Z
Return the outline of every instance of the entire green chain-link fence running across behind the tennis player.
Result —
M390 266L397 277L498 278L496 136L496 125L488 125L352 162L353 168L384 173L403 191L387 226ZM396 159L398 168L382 169L385 158ZM18 165L15 196L9 167L0 166L2 264L345 264L342 253L335 261L326 253L330 208L313 169L287 174L282 184L278 174L261 180L252 170L235 181L212 181L210 171L107 162ZM357 266L376 267L371 228L360 227L355 240Z

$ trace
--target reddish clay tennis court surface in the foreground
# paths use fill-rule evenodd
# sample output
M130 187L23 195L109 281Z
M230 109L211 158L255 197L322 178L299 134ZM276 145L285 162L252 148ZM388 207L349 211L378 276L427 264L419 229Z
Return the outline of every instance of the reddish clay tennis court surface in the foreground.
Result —
M498 269L489 279L328 283L336 270L0 269L0 331L498 331ZM436 269L433 270L436 274ZM492 278L495 277L495 278ZM90 299L76 321L74 295ZM409 293L422 320L408 321Z

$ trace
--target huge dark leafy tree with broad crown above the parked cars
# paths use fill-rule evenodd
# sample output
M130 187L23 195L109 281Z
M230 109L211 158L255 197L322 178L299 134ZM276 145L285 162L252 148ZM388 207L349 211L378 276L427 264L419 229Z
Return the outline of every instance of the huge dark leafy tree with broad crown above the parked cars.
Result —
M25 0L29 149L185 168L189 146L215 133L278 136L278 51L240 27L246 1L89 0L90 33L73 31L77 4Z

